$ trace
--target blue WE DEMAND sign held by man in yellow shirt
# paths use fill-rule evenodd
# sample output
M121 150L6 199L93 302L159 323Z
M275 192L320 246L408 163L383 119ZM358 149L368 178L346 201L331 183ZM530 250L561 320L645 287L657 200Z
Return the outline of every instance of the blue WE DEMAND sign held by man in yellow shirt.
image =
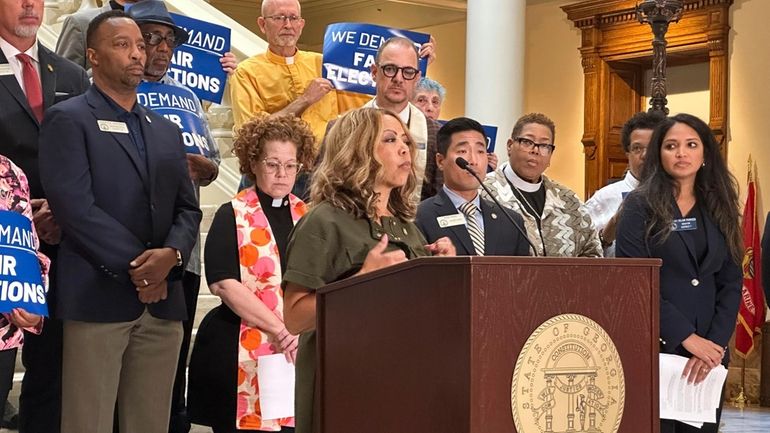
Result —
M409 30L360 23L330 24L324 34L323 77L337 90L374 95L376 86L370 68L375 64L377 49L393 36L411 39L418 49L430 41L430 35ZM419 69L424 77L427 58L420 59Z

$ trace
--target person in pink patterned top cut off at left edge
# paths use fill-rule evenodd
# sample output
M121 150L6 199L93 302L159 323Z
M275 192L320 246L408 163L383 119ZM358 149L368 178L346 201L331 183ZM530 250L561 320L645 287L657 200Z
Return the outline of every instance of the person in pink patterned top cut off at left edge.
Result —
M29 182L24 172L10 159L0 155L0 212L16 212L30 220L35 249L40 246L32 217L32 201L29 198ZM6 226L4 229L10 230ZM7 249L4 248L7 251ZM10 258L10 256L9 256ZM3 257L3 280L8 272L8 258ZM48 269L51 261L43 253L37 252L40 263L43 287L48 290ZM14 260L15 263L15 260ZM10 275L9 275L10 276ZM5 405L8 393L13 387L13 372L16 368L16 352L24 344L24 332L40 334L43 329L43 317L27 312L23 308L14 308L0 314L0 408Z

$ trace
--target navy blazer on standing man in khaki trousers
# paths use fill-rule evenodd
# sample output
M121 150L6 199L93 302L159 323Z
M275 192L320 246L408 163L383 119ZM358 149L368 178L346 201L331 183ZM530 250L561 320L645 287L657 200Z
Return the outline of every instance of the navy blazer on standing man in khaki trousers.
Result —
M146 164L128 134L100 130L99 120L119 121L95 87L52 107L43 120L40 172L63 234L57 308L63 319L138 318L145 305L130 281L129 262L164 246L187 260L195 244L201 211L179 128L138 109ZM169 278L168 299L148 308L161 319L185 319L181 281Z

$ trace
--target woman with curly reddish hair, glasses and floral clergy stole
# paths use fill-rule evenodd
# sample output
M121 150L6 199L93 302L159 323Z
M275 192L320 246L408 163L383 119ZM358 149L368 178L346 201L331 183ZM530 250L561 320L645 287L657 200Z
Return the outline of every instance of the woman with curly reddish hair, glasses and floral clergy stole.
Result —
M189 371L190 420L215 433L294 431L291 411L265 409L258 368L276 358L285 367L296 357L280 284L289 232L305 213L290 191L313 160L313 141L297 117L258 117L243 125L233 145L241 172L255 186L223 204L211 224L206 279L222 304L200 325Z

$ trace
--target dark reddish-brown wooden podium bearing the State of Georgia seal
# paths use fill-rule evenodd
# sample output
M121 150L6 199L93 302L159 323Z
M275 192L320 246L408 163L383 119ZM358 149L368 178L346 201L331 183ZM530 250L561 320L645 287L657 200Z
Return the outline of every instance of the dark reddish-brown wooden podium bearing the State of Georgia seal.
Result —
M625 378L618 431L658 432L659 266L430 257L326 286L317 298L320 431L516 432L519 353L541 324L574 313L617 347ZM576 424L573 431L590 430Z

